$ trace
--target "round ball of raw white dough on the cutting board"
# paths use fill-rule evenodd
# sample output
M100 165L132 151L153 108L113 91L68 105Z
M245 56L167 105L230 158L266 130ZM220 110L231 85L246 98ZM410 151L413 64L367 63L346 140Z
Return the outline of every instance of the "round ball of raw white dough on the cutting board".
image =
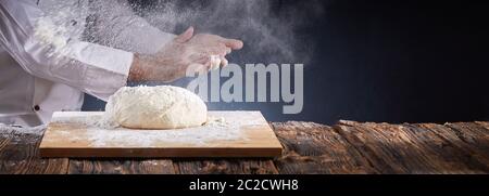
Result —
M202 126L208 118L204 102L187 89L124 87L105 106L111 120L131 129L177 129Z

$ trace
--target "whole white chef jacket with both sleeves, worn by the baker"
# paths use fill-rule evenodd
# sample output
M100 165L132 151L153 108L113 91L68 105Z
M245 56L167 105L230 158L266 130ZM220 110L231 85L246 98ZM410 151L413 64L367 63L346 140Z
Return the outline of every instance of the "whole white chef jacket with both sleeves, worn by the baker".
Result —
M0 123L47 123L54 112L79 110L84 92L106 101L126 84L133 52L154 53L175 37L136 16L125 3L0 0ZM52 51L35 39L35 22L61 11L61 19L74 27L85 28L88 21L89 36L99 44L72 41L72 52L55 54L63 61L50 58ZM86 32L74 31L79 37Z

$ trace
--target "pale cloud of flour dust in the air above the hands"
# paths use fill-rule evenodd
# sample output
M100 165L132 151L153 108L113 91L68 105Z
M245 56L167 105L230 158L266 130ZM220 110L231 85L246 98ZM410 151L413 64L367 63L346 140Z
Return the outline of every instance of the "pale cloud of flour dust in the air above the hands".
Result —
M161 30L179 34L188 26L197 32L243 40L234 63L304 63L313 40L301 34L325 10L319 0L158 0L129 1L134 10Z

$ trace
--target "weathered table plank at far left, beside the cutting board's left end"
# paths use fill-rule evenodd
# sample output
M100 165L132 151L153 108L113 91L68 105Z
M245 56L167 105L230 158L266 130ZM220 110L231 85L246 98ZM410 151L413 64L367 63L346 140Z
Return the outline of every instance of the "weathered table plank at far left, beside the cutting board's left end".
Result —
M7 131L2 133L0 173L2 174L63 174L66 158L41 159L38 145L41 134ZM8 142L5 142L8 141Z

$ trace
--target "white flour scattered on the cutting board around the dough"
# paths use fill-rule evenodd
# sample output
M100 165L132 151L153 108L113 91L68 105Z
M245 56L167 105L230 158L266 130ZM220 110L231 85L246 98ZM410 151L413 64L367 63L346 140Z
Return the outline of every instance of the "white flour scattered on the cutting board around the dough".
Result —
M70 142L79 142L82 138L88 139L90 145L93 147L104 146L126 146L140 147L153 146L158 143L185 143L192 145L213 146L216 141L237 141L248 140L241 130L241 126L263 125L262 121L243 120L227 121L225 117L210 116L205 125L195 128L174 129L174 130L134 130L116 126L113 122L106 121L100 113L95 113L89 116L74 116L57 117L55 122L75 122L84 125L87 131L83 135L73 135L73 132L65 131ZM234 118L236 119L236 118ZM246 123L246 125L243 125ZM64 134L63 131L60 133Z

